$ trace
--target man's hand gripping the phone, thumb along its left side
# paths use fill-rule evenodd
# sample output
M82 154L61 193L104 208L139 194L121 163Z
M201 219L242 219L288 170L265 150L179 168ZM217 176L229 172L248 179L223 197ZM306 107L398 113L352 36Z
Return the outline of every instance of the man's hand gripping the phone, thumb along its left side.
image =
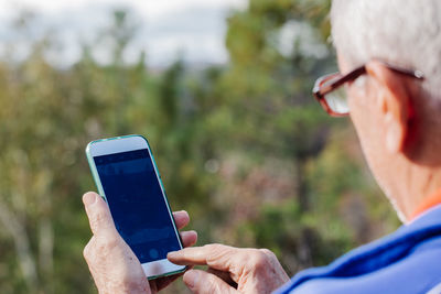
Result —
M149 284L138 258L115 228L106 202L89 192L83 196L83 203L94 233L83 253L100 294L154 293L178 277L157 279ZM178 229L190 221L186 211L173 213L173 217ZM183 246L187 247L196 242L197 235L184 231L181 238Z

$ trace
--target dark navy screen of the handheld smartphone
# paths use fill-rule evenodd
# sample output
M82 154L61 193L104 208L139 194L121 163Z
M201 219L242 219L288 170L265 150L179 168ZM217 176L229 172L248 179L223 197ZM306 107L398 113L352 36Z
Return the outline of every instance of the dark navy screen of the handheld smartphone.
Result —
M115 226L141 263L180 250L147 149L94 157Z

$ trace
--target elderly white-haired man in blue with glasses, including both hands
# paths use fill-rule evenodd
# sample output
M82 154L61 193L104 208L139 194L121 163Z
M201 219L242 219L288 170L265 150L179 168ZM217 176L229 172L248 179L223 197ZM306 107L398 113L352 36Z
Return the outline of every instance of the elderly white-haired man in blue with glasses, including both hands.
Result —
M170 253L172 262L209 266L184 274L194 293L441 293L441 1L334 0L331 17L342 74L319 79L314 94L330 115L351 116L405 225L291 281L266 249L208 244ZM95 194L84 200L95 233L85 257L100 292L148 293L105 203ZM196 239L183 237L186 244Z

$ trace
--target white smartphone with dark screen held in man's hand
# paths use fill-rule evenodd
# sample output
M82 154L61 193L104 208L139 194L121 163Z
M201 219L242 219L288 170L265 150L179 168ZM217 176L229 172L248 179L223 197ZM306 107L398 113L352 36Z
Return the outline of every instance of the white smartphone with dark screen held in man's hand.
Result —
M182 249L161 176L142 135L90 142L87 161L115 226L135 252L149 280L183 272L166 259Z

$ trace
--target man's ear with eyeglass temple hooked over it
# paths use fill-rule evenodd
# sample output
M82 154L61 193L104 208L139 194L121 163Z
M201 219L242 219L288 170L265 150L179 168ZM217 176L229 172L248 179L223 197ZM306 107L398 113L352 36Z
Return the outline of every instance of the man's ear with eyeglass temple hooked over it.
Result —
M366 72L376 81L377 102L383 118L384 143L390 153L404 151L409 134L411 111L406 78L377 61L366 64Z

